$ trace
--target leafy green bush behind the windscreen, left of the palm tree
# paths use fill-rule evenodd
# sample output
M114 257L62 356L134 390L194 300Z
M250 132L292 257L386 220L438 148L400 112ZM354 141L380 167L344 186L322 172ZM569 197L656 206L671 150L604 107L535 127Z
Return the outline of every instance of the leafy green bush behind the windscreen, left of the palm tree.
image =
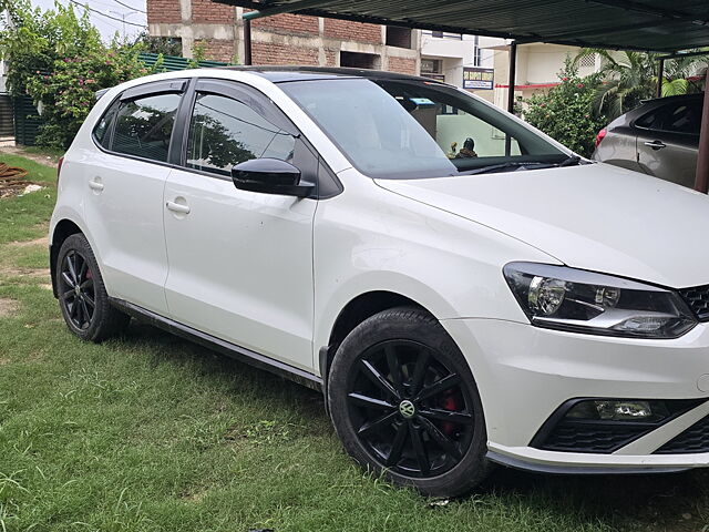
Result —
M546 94L534 94L524 103L524 119L574 152L589 156L598 130L607 123L604 115L592 111L598 74L578 76L578 69L566 60L558 74L561 83Z

